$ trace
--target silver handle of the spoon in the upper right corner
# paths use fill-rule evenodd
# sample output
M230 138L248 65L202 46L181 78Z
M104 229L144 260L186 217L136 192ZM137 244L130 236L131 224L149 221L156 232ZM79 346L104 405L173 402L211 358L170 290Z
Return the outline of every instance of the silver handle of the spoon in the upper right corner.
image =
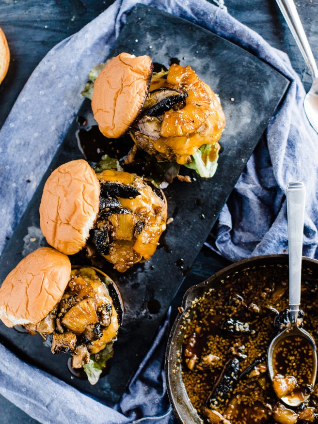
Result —
M286 19L288 27L295 38L295 41L302 53L302 56L309 68L312 78L318 78L318 69L313 52L310 48L306 33L302 26L302 21L298 15L296 5L293 0L276 0L277 4Z

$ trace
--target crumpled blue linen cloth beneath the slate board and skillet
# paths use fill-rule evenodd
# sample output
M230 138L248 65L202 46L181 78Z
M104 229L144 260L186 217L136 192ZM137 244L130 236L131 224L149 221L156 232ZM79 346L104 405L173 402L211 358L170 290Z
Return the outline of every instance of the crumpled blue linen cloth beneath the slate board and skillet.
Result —
M286 54L270 47L224 8L205 0L139 2L223 36L291 80L283 102L223 208L213 232L214 247L231 260L286 251L284 191L289 181L301 180L307 188L304 254L317 257L318 135L305 118L304 90ZM127 11L135 3L115 1L81 31L54 47L19 95L0 131L0 251L79 109L79 88L89 70L109 54ZM167 333L168 318L121 402L112 408L20 361L3 345L0 393L41 423L173 423L163 375Z

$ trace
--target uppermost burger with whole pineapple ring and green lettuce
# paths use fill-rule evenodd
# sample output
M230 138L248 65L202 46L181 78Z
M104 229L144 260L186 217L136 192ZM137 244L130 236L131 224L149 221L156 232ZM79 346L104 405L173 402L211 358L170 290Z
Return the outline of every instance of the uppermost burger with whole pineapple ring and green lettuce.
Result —
M202 177L217 169L225 116L220 99L191 66L153 72L149 56L120 53L97 65L82 94L107 138L129 131L140 150ZM107 141L105 141L107 142Z

